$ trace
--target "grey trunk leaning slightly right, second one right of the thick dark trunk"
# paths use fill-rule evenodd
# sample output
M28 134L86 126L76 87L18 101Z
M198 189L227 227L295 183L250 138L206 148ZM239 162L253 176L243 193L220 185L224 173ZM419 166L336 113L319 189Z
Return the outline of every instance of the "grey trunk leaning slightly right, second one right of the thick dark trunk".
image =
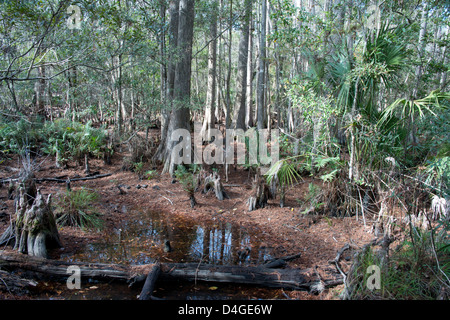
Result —
M236 102L234 105L233 127L234 129L245 129L245 108L247 91L247 64L248 64L248 41L250 12L252 10L251 0L245 0L245 15L242 21L242 34L239 42L239 60L237 75Z

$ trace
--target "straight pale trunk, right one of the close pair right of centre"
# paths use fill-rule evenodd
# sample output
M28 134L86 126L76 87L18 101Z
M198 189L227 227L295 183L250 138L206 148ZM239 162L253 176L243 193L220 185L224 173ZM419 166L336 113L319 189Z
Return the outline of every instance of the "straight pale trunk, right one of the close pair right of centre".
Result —
M264 88L266 84L266 11L267 0L262 0L261 5L261 33L259 38L259 65L258 65L258 88L257 88L257 100L256 100L256 112L257 112L257 128L264 129Z

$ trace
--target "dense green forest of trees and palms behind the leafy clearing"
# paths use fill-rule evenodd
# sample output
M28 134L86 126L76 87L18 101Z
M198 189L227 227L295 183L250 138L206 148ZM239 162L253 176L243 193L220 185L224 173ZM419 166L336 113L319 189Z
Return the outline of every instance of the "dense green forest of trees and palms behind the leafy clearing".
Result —
M281 205L310 174L317 210L448 216L449 29L438 0L0 1L0 156L87 164L156 127L131 167L181 176L174 130L270 129Z

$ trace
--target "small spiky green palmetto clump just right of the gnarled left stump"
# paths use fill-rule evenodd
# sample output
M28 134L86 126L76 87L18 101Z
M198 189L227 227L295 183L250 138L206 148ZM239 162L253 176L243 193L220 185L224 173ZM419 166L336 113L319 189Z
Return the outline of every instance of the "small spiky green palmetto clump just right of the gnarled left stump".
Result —
M85 188L68 190L56 197L54 213L61 226L101 229L103 221L95 209L99 194Z

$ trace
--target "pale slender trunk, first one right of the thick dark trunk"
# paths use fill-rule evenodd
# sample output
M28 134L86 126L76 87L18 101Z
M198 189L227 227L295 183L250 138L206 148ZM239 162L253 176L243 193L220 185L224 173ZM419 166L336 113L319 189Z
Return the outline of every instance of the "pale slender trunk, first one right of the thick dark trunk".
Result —
M216 70L217 70L217 1L213 3L211 14L210 43L208 45L208 89L206 91L205 117L202 126L202 138L209 141L209 130L214 128L216 103Z

